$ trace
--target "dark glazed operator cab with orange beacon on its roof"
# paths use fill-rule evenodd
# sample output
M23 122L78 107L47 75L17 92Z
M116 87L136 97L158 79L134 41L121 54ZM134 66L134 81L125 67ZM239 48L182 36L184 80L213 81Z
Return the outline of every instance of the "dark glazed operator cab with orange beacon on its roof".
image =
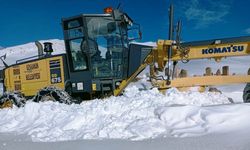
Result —
M119 10L106 12L62 20L74 93L112 92L127 77L127 31L133 21Z

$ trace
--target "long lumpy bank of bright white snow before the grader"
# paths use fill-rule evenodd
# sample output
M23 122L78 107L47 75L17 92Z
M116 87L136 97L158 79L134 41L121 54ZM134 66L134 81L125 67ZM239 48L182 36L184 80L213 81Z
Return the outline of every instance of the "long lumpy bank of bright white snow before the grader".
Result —
M235 130L239 123L249 126L250 105L210 106L228 103L221 94L170 89L162 95L156 89L140 91L132 86L123 96L80 105L28 102L23 108L0 110L0 132L28 134L43 142L143 140Z

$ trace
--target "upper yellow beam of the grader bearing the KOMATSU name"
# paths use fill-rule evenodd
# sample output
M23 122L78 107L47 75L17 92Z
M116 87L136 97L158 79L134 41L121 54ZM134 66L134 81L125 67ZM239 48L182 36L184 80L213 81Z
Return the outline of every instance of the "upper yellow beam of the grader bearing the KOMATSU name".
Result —
M162 61L167 61L167 50L169 46L173 47L173 55L171 56L172 61L181 60L183 58L180 50L171 44L169 40L159 40L157 42L157 48L154 49L156 60L160 59ZM186 58L188 60L250 55L250 41L191 46L185 48L188 49L188 56Z

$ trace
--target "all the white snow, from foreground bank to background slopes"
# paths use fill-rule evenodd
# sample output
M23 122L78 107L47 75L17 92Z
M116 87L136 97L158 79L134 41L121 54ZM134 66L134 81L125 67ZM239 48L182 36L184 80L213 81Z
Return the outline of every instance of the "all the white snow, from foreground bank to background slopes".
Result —
M65 51L63 41L50 41L54 54ZM13 64L36 55L37 49L29 43L5 48L0 56L5 53L6 62ZM180 67L193 75L229 63L240 74L249 68L247 60L230 58L220 66L197 60ZM28 102L0 110L0 149L249 149L250 104L242 103L244 85L218 87L223 94L173 88L163 95L150 89L145 74L119 97L72 105Z

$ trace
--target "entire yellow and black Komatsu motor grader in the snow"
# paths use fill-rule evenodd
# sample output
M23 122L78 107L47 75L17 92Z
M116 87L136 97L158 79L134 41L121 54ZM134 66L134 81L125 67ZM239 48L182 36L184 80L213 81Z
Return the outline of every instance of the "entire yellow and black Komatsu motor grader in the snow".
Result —
M249 72L248 75L230 75L227 67L216 75L209 68L204 76L188 77L184 70L175 75L178 61L212 58L219 62L223 57L249 55L250 37L181 43L180 23L176 39L173 39L173 6L169 17L169 39L158 40L156 47L131 43L136 37L131 37L130 31L138 31L140 38L140 26L118 9L106 8L105 14L62 19L66 54L52 55L51 43L44 43L46 54L43 54L42 45L36 42L37 59L22 59L10 66L5 63L6 92L0 100L1 107L22 106L25 103L22 96L33 97L36 102L49 97L69 104L118 96L147 66L150 66L150 81L159 90L250 82ZM165 72L166 77L159 76L158 72ZM245 102L250 101L249 93L248 84Z

